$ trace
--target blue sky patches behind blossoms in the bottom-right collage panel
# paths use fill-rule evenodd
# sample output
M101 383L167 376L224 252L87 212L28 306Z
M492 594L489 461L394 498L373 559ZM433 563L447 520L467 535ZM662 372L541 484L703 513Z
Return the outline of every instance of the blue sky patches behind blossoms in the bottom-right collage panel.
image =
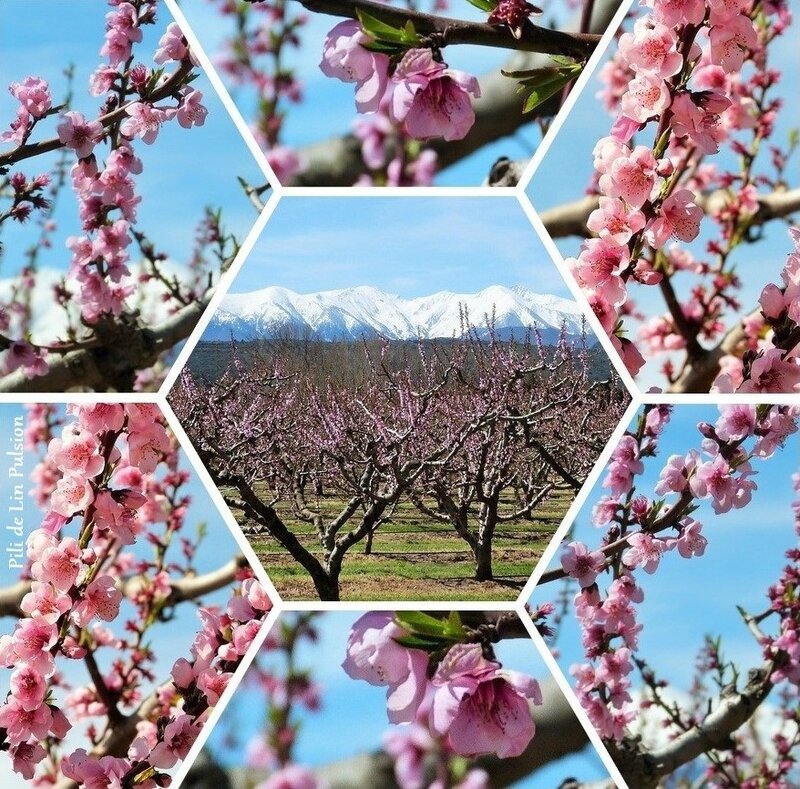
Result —
M718 416L719 410L712 406L677 406L660 439L659 455L645 460L645 473L637 477L637 488L652 496L667 458L698 447L697 423L713 423ZM703 534L708 539L704 556L687 560L671 551L654 575L637 573L645 593L645 601L638 607L644 624L641 655L658 675L683 690L688 689L694 657L705 634L723 636L724 653L743 670L758 665L760 650L736 606L753 613L766 608L767 587L775 582L785 564L784 551L796 544L791 475L800 469L800 438L795 433L782 452L753 467L758 472L758 490L749 507L717 516L704 501L694 513L693 517L703 523ZM579 513L572 538L592 547L599 544L602 536L590 520L592 507L606 493L600 482ZM558 556L552 566L560 566ZM561 583L537 589L533 602L554 600ZM580 635L571 613L564 620L556 646L565 672L582 659Z

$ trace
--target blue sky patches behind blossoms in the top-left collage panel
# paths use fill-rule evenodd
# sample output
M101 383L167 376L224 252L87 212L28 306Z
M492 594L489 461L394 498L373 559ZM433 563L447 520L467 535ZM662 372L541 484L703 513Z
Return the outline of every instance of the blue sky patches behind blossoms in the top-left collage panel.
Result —
M35 10L34 10L35 9ZM6 85L32 74L50 82L54 104L60 102L66 89L63 69L75 64L75 97L73 108L84 114L96 114L99 102L88 93L89 75L101 62L98 54L103 43L106 3L99 0L3 0L0 24L0 124L6 129L16 112L16 100ZM46 19L46 24L44 20ZM144 41L136 51L148 66L154 66L152 55L158 39L172 18L167 8L159 6L159 19L146 26ZM252 154L236 130L225 108L205 76L194 83L202 90L209 114L203 127L183 129L177 123L162 127L159 139L152 146L136 142L136 150L144 163L144 172L137 177L143 201L139 207L138 227L147 232L157 246L173 258L185 260L191 250L193 232L206 205L223 206L223 221L229 231L241 240L255 221L252 205L242 192L236 176L251 183L265 179ZM56 119L50 118L35 132L34 139L54 135ZM7 144L0 145L6 150ZM96 152L103 151L103 146ZM18 165L23 172L45 172L55 155L36 157ZM54 218L60 229L54 237L54 248L44 254L40 265L65 268L69 255L64 240L80 232L75 200L65 187ZM6 255L0 264L0 277L16 271L22 251L37 237L36 226L29 223L3 225Z

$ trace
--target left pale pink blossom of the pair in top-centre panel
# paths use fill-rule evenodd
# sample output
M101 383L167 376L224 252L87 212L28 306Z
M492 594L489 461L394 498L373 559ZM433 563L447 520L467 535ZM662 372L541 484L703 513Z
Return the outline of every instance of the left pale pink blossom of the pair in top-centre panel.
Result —
M356 83L359 112L378 109L388 82L389 58L365 49L370 40L355 20L340 22L325 38L319 64L326 76Z

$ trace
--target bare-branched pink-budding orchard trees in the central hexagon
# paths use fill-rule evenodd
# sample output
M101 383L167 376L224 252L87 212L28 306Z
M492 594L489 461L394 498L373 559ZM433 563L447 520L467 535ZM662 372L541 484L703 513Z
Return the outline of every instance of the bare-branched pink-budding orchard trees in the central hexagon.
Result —
M289 354L233 363L215 383L184 373L173 406L227 502L339 598L347 552L412 502L469 545L492 578L501 524L530 520L553 491L577 491L625 397L593 381L590 353L562 336L353 349L368 374L311 374ZM326 506L321 506L325 502ZM331 512L330 503L337 502ZM308 550L283 513L313 525Z

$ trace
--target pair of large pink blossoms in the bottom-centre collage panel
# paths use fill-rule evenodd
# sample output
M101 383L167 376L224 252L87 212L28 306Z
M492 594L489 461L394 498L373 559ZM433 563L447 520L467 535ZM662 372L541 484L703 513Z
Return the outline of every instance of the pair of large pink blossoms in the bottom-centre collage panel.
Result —
M453 644L429 676L429 653L404 646L407 635L391 612L365 614L342 664L350 677L388 688L389 720L416 724L462 756L522 753L535 733L531 707L542 703L536 680L503 669L480 643Z

